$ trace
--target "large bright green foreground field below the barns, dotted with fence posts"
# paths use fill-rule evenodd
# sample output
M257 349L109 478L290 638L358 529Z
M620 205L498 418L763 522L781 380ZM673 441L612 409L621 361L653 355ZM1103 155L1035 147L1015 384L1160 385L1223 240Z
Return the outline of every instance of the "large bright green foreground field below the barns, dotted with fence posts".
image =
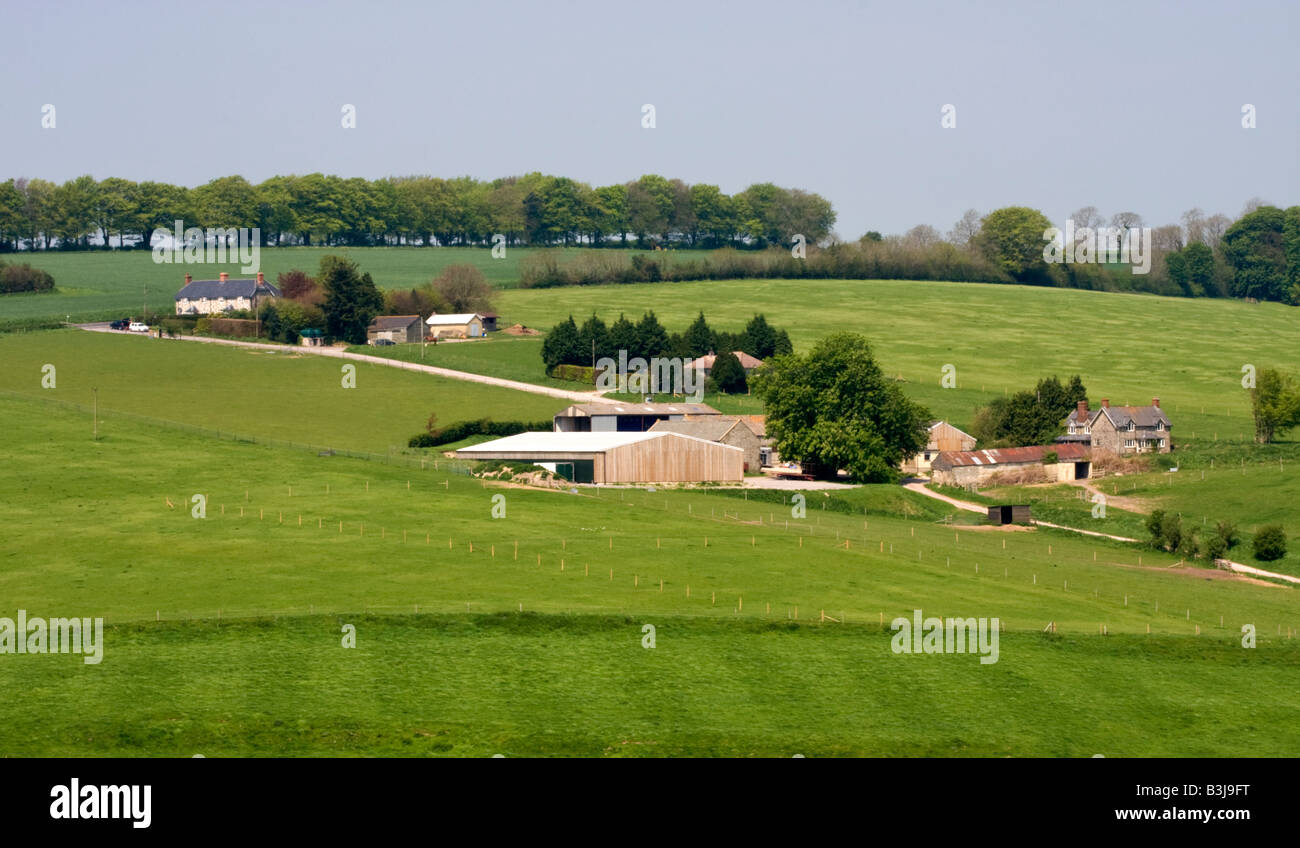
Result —
M36 399L0 414L22 528L4 613L108 626L99 666L0 663L25 693L0 708L6 753L1300 750L1294 590L1124 545L948 525L893 486L794 520L734 493L485 488L113 417L94 442ZM998 662L893 654L880 620L913 609L1001 618Z

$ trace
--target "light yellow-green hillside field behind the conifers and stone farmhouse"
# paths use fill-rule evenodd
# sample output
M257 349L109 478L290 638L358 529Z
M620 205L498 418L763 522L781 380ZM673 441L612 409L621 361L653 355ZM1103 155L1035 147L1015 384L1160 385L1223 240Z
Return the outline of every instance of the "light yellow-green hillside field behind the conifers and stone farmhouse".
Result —
M1295 368L1300 311L1238 300L954 282L744 280L515 290L500 295L510 321L542 329L594 310L654 310L685 328L703 310L715 329L738 332L755 312L807 350L833 330L866 334L888 373L915 399L968 425L974 408L1040 376L1083 375L1095 402L1149 403L1174 423L1174 438L1249 440L1242 365ZM957 388L942 389L945 364ZM1195 436L1193 436L1195 434Z

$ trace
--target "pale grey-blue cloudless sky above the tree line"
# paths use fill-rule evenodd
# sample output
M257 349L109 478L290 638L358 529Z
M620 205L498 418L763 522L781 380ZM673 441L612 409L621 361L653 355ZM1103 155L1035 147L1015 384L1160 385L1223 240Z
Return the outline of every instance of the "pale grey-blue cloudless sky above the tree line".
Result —
M1158 226L1300 203L1296 3L0 0L0 181L659 173L816 191L844 239L968 208Z

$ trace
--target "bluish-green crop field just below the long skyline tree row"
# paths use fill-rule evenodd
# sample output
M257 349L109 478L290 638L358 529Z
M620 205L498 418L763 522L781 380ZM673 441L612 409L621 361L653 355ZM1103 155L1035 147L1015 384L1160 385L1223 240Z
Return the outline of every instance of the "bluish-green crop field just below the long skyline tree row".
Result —
M572 256L578 248L555 248ZM519 284L519 263L536 248L511 247L502 259L490 248L477 247L268 247L259 261L266 278L291 269L316 276L321 256L342 255L368 271L380 289L413 289L447 265L472 264L498 287ZM139 315L172 307L172 298L185 285L185 274L195 280L216 280L222 271L244 277L239 263L166 264L155 263L150 251L82 251L60 254L32 252L8 255L5 261L29 263L55 277L56 291L0 297L0 328L6 323L48 319L74 321Z

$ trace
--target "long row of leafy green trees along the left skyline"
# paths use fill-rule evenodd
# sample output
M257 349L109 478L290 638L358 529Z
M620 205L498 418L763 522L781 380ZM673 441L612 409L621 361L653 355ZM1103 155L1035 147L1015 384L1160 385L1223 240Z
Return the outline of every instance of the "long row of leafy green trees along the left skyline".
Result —
M727 195L659 174L592 187L529 173L471 177L239 176L187 189L118 177L0 183L0 250L148 246L157 229L260 228L265 245L477 245L495 234L511 245L593 245L629 238L641 246L788 245L794 234L816 243L831 235L835 211L800 189L757 183Z

